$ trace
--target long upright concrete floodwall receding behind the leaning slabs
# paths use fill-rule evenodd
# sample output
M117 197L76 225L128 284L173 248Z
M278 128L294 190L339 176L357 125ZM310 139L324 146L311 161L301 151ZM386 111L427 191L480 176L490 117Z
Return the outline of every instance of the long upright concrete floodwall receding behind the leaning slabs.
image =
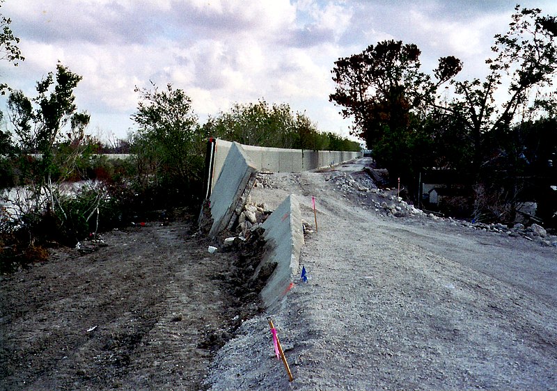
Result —
M212 188L217 183L226 155L233 143L216 139L212 172ZM361 156L361 152L291 150L285 148L253 147L238 144L259 171L299 173L340 164Z

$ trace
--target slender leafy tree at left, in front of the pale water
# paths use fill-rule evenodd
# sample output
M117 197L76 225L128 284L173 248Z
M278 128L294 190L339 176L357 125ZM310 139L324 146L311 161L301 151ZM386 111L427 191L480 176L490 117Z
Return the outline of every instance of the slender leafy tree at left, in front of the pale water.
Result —
M61 63L56 65L56 76L49 72L37 83L38 95L26 97L22 91L13 91L8 98L8 116L13 127L13 137L19 150L25 154L40 154L38 159L22 155L20 168L24 185L29 186L33 205L29 212L40 217L45 209L57 212L58 184L76 168L81 152L81 141L90 115L78 112L74 88L81 76L74 74ZM44 194L47 194L45 200ZM65 215L63 210L60 211Z

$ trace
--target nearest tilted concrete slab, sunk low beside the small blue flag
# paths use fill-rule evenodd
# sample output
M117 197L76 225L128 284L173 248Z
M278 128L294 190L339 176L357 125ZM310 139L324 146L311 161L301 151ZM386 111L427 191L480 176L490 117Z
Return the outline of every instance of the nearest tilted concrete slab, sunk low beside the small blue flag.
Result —
M263 303L271 307L283 298L285 290L299 269L301 246L304 232L301 212L295 196L290 195L263 223L265 246L269 252L258 266L256 273L267 262L276 262L276 269L261 291Z

